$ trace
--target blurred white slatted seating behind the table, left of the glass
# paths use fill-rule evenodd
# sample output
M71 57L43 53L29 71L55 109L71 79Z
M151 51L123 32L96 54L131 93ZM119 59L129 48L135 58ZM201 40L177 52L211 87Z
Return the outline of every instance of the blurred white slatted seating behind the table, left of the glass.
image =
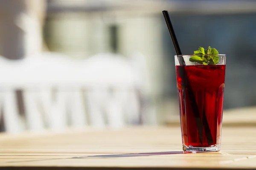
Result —
M145 114L150 104L144 102L148 98L145 65L139 69L143 56L134 56L98 54L72 60L44 53L22 60L0 57L0 119L3 117L6 131L153 123L154 110ZM17 110L15 91L19 89L23 91L24 119Z

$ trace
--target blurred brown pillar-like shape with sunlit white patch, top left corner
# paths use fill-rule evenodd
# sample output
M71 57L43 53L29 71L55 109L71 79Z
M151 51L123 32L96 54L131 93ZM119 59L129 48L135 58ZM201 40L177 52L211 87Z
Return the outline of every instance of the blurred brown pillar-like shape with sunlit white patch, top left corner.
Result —
M46 0L0 0L0 55L21 59L43 49Z

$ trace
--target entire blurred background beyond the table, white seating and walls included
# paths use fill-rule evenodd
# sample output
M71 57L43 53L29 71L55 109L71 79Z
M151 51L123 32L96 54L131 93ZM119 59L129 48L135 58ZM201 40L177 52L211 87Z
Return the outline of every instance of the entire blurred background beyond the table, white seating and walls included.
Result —
M183 54L227 54L224 109L255 106L255 0L0 0L0 130L177 122L163 10Z

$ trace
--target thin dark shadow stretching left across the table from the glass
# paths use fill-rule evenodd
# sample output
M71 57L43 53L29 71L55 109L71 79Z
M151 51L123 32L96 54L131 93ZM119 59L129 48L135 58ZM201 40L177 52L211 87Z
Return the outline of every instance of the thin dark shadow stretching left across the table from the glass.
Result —
M172 155L172 154L186 154L188 152L183 151L169 151L169 152L150 152L150 153L122 153L111 155L95 155L95 156L79 156L73 157L73 159L81 158L121 158L121 157L133 157L133 156L157 156L157 155Z

